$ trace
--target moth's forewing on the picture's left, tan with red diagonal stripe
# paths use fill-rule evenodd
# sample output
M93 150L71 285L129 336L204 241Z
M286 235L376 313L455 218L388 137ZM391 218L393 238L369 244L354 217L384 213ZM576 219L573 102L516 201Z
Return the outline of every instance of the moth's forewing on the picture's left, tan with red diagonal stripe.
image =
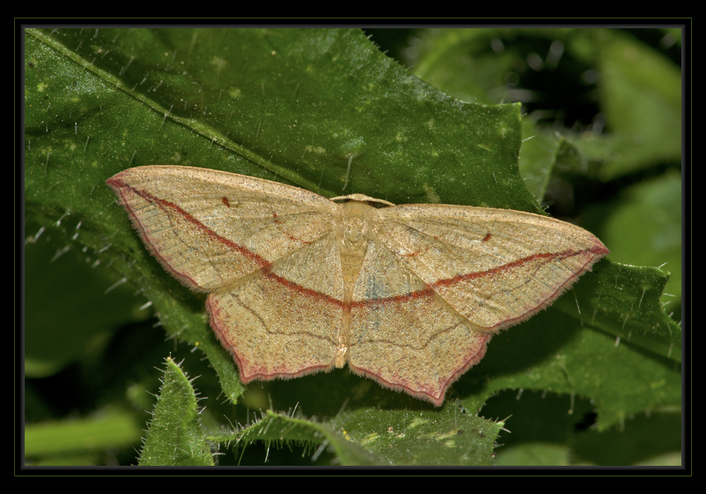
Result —
M202 291L320 238L337 207L300 188L192 167L136 167L107 183L155 258Z

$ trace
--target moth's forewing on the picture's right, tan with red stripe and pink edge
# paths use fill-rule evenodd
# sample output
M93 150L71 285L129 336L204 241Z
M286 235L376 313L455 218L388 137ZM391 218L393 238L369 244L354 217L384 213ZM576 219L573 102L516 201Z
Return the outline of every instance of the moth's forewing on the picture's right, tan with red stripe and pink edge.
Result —
M590 232L527 212L453 205L380 210L378 237L481 330L548 306L608 253Z

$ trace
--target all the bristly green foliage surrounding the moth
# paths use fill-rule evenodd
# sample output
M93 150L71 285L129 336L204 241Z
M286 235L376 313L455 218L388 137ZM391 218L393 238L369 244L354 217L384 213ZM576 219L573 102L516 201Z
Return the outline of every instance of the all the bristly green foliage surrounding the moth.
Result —
M25 31L28 462L489 465L496 442L510 444L502 464L674 462L681 327L663 306L681 307L678 66L618 30L421 36L414 71L438 89L359 30ZM490 104L556 43L570 70L552 71L600 74L585 93L610 133L560 135L531 104L530 118ZM104 184L143 164L393 203L540 212L551 198L611 256L495 337L440 409L345 369L245 390L203 296L150 257ZM616 454L611 440L647 445Z

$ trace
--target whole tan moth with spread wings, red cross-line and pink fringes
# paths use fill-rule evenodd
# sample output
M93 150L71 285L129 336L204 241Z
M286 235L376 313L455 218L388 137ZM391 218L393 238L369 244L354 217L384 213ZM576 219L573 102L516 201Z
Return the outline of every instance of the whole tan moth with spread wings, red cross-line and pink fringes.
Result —
M328 199L193 167L136 167L107 184L164 269L208 293L245 383L348 364L441 406L493 335L609 253L580 227L513 210Z

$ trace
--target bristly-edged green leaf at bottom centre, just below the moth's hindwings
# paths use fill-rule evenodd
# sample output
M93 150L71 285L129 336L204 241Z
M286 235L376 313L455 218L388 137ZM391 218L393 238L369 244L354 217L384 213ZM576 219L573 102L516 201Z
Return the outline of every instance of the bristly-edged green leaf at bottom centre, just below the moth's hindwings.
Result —
M385 417L384 430L381 416ZM304 445L313 462L328 450L339 464L347 466L487 466L493 464L493 447L503 428L503 423L470 414L460 404L445 405L441 413L397 410L381 414L359 408L339 414L332 424L268 410L237 433L222 431L209 439L236 445L262 441L268 454L271 447L294 442Z

